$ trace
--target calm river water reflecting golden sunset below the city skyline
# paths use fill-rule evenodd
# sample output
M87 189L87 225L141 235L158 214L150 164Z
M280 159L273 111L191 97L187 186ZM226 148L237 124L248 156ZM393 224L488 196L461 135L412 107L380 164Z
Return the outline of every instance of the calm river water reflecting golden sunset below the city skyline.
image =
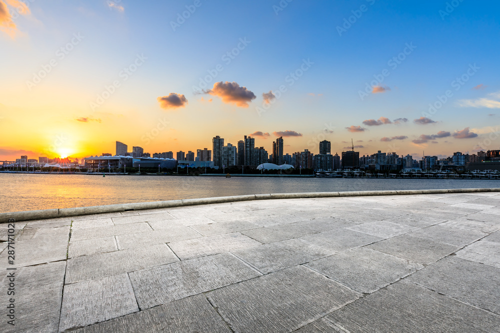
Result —
M0 174L0 212L229 195L500 187L500 180Z

